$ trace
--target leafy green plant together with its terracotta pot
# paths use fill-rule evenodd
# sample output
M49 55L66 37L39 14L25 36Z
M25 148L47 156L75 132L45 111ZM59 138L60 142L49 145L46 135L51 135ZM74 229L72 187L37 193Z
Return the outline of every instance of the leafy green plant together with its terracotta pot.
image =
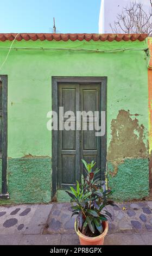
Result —
M73 215L75 219L75 231L79 236L80 245L103 245L104 237L108 231L107 218L112 217L106 209L107 205L117 206L110 199L111 190L104 190L105 181L97 177L98 168L93 172L96 164L94 161L86 163L86 175L81 175L81 183L77 181L77 187L66 191L71 197Z

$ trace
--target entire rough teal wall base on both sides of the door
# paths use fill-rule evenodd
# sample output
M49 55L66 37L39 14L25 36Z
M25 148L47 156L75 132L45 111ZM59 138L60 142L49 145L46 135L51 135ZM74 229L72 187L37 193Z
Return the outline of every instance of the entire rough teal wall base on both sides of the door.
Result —
M0 204L49 203L51 201L52 161L50 157L23 157L8 160L9 200ZM117 173L116 172L117 169ZM1 177L1 175L0 175ZM107 162L108 186L116 200L141 199L149 192L148 159L125 159ZM1 182L0 182L1 184ZM69 202L64 190L57 191L58 202Z

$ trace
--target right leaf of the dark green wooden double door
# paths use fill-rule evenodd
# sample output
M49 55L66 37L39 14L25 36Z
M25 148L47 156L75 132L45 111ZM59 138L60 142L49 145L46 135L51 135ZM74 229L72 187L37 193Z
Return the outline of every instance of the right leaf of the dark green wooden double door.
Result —
M80 85L80 111L92 111L93 118L96 117L94 111L101 110L101 85L100 84L81 84ZM81 127L87 126L87 130L80 131L80 168L81 173L85 174L81 159L86 162L94 160L96 167L101 165L101 138L96 137L94 129L94 120L91 124L93 130L89 130L89 121L92 122L92 116L87 115L81 118ZM97 120L96 120L97 121ZM96 168L94 167L94 168Z

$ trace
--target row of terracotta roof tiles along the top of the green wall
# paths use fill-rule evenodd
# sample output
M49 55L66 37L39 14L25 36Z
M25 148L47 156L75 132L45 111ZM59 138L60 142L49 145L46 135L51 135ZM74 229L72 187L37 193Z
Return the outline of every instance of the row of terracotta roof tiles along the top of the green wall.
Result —
M15 36L17 34L15 33L10 33L10 34L0 34L0 41L12 41L14 40ZM71 40L71 41L82 41L82 40L86 40L86 41L143 41L145 38L147 38L147 34L43 34L43 33L21 33L17 35L16 40L17 41L21 41L22 39L28 41L28 40L48 40L48 41L67 41L67 40Z

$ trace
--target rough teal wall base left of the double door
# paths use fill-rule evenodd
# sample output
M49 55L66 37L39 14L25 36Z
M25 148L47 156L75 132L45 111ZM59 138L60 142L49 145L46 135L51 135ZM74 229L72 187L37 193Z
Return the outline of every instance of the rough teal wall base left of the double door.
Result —
M48 203L51 200L51 158L8 159L9 203ZM2 200L1 200L1 203Z

